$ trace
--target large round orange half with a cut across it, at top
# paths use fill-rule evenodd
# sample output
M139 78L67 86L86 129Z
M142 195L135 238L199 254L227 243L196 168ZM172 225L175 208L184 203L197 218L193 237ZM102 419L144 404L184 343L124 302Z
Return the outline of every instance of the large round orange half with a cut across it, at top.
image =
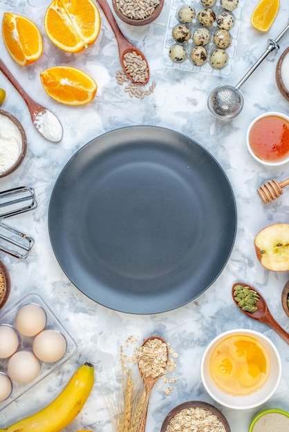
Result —
M100 12L93 0L53 0L44 17L46 35L58 48L80 52L100 32Z

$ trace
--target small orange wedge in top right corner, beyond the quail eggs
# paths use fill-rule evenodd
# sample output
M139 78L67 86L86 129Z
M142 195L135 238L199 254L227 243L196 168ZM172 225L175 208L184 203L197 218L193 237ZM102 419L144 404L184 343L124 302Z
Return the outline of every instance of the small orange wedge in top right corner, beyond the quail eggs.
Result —
M261 0L252 13L251 23L256 30L268 32L279 10L279 0Z

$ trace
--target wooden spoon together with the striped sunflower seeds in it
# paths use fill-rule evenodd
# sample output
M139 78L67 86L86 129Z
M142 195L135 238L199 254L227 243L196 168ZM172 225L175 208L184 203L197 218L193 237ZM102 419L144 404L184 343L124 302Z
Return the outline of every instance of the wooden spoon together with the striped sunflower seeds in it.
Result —
M97 3L102 8L104 15L106 16L106 19L107 21L109 21L113 33L115 34L115 39L118 42L120 63L122 65L122 69L124 70L124 73L131 81L138 84L138 86L144 86L145 84L147 84L147 81L149 81L149 65L147 63L147 59L142 54L142 52L138 48L136 48L136 46L133 45L133 43L131 43L126 37L124 37L124 35L122 35L122 32L118 27L118 23L115 21L115 18L113 17L113 13L111 12L109 3L107 3L106 0L97 0ZM129 59L130 55L132 56L131 57L132 61ZM128 62L131 64L133 63L135 67L139 66L139 68L136 68L135 70L133 70L133 72L129 73L127 70ZM136 73L137 77L131 75L132 73L133 74Z

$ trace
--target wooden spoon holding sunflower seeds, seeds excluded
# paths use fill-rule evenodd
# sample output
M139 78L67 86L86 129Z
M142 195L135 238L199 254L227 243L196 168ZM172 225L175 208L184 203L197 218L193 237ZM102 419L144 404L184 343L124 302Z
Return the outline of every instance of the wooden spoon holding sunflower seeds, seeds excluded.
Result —
M107 3L106 0L97 0L98 4L102 8L104 15L106 16L107 21L109 21L109 24L113 30L113 33L115 34L115 39L118 43L118 52L120 56L120 64L122 65L122 69L124 70L124 73L127 75L127 77L133 81L134 83L138 84L138 86L144 86L147 84L147 81L149 81L149 65L147 63L147 59L142 54L142 52L136 48L136 46L133 45L120 31L120 28L118 27L118 23L115 21L115 18L113 17L113 13L111 12L111 8L109 7L109 3ZM136 55L139 55L142 57L143 60L147 63L147 78L145 81L134 81L133 77L126 71L125 66L125 55L127 55L129 52L136 52Z

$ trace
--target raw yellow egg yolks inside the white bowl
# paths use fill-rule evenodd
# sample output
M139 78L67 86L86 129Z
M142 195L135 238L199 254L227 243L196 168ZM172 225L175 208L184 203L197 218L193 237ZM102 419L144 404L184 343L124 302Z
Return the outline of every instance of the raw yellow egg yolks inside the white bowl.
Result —
M219 342L209 357L209 373L221 391L249 395L265 384L270 373L265 346L247 335L232 335Z

